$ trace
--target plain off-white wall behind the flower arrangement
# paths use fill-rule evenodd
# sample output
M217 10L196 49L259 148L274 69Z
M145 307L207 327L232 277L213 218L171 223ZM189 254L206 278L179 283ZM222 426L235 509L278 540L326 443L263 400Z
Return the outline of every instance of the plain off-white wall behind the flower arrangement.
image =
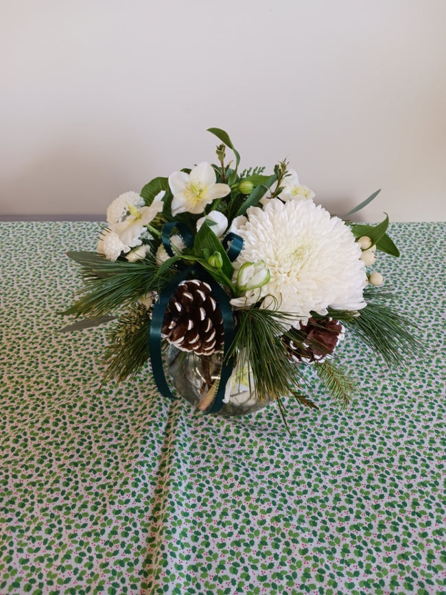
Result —
M361 218L446 219L446 0L1 0L0 215L285 156Z

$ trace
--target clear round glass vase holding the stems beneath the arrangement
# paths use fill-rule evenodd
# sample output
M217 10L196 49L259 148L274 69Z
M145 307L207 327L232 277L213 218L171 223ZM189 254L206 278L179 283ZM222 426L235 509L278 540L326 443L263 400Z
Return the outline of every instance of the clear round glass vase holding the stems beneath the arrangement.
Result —
M176 388L177 395L183 397L199 410L206 411L213 403L212 390L220 379L222 370L222 353L197 355L193 351L181 351L173 345L167 350L167 372ZM270 404L269 399L260 400L253 386L243 384L242 375L236 371L228 383L230 384L228 402L213 415L235 417L248 415ZM215 388L215 387L214 387Z

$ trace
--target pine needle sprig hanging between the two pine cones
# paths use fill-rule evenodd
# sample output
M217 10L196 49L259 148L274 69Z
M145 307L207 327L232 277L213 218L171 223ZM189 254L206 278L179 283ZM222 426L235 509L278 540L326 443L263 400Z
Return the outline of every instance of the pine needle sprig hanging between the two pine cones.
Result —
M283 323L290 314L273 310L239 310L237 334L228 357L239 355L240 365L253 373L259 399L279 399L290 394L290 386L298 386L301 373L287 357L281 340Z

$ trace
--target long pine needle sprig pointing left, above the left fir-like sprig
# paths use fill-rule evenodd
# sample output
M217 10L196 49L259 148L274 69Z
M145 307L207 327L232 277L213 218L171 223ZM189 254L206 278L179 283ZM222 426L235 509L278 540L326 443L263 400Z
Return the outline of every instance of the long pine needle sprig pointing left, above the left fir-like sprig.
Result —
M128 262L110 261L89 252L68 255L82 265L84 287L80 299L62 312L65 316L104 316L116 308L131 305L148 292L159 292L172 277L168 268L160 275L154 258Z

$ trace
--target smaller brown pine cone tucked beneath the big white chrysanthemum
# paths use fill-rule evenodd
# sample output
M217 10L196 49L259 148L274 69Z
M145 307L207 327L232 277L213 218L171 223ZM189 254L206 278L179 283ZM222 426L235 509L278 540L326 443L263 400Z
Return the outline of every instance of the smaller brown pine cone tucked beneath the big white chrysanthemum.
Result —
M282 340L291 360L312 364L322 363L343 338L344 327L339 320L309 318L306 325L299 323L299 328L290 329Z

